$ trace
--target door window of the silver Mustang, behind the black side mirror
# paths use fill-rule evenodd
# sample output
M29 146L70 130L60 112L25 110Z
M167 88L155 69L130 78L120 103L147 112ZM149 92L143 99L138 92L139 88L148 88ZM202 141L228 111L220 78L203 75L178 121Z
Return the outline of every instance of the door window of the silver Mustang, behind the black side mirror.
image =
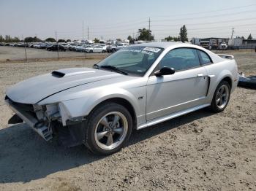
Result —
M192 48L170 50L160 62L160 69L164 66L173 68L176 71L200 66L197 50Z

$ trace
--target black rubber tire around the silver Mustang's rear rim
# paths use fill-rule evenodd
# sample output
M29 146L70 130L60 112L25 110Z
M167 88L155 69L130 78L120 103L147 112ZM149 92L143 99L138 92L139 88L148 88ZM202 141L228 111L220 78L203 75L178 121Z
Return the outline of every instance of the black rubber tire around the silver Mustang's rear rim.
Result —
M221 87L227 87L227 89L225 91L227 91L227 98L225 101L225 105L223 106L218 106L217 104L217 99L219 98L219 90ZM222 99L222 95L221 98ZM212 98L211 101L211 111L215 112L215 113L219 113L224 111L224 109L227 107L228 102L230 101L230 85L227 81L222 81L219 83L219 85L217 86L215 93L214 93L214 97Z

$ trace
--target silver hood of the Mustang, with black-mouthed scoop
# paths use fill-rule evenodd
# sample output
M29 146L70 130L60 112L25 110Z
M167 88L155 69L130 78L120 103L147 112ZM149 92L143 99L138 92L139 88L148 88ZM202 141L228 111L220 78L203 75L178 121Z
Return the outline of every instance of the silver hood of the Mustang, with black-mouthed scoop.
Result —
M6 94L12 101L23 104L36 104L48 98L50 95L72 87L122 76L122 74L98 69L60 69L50 74L44 74L18 82L8 88Z

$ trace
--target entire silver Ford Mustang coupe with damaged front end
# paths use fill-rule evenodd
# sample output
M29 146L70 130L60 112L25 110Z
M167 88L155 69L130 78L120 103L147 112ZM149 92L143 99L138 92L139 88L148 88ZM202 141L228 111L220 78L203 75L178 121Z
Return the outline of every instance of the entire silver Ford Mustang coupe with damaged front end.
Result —
M60 69L7 90L15 115L46 141L86 144L108 155L134 129L211 107L222 112L238 83L232 55L192 44L160 42L124 47L93 69Z

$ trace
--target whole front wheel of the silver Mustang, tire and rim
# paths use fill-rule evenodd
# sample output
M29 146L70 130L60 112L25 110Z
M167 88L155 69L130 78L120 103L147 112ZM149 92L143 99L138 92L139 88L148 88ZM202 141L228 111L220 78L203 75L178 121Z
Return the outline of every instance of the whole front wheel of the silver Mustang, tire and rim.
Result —
M124 106L107 103L89 115L86 125L86 147L99 155L118 152L132 133L132 117Z

